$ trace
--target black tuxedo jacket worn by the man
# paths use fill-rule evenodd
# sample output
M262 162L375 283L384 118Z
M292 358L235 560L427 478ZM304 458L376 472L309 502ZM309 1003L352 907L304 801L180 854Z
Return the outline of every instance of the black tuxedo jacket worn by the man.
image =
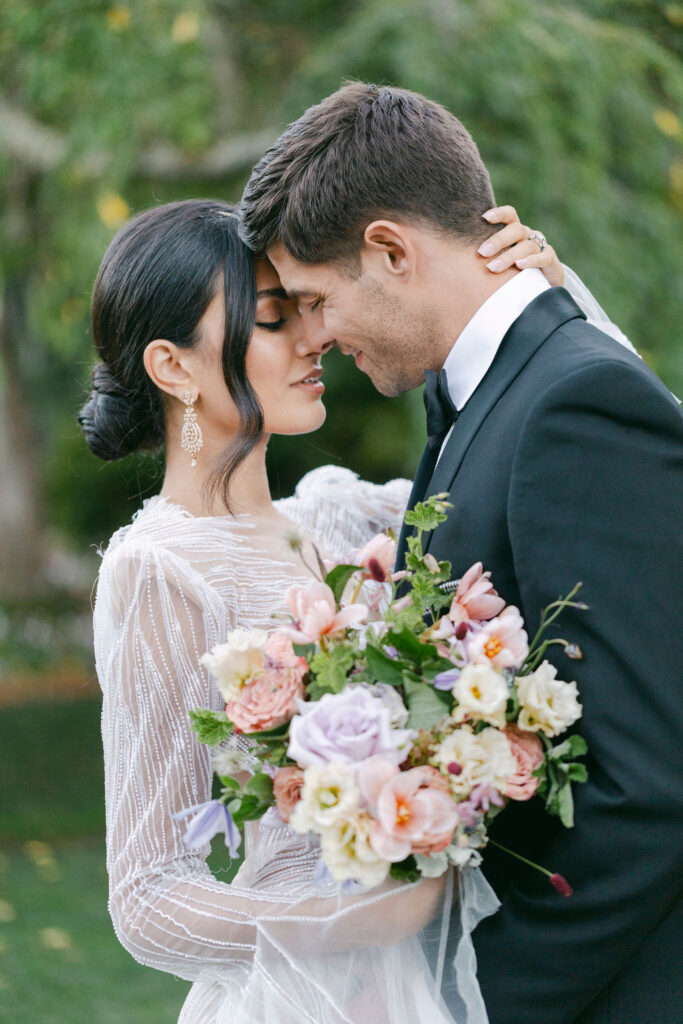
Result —
M474 933L490 1024L681 1022L681 410L551 289L513 324L455 424L426 494L441 490L454 508L427 547L454 577L481 560L531 632L578 581L590 605L567 610L556 634L584 659L549 655L584 706L575 826L535 798L492 829L574 895L486 851L503 904Z

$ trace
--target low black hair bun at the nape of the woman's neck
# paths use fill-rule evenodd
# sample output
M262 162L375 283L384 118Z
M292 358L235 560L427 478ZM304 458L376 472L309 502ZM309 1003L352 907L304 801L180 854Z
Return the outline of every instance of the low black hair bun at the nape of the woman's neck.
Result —
M106 462L158 447L164 439L147 388L135 393L122 386L105 362L92 372L92 390L78 422L90 451Z

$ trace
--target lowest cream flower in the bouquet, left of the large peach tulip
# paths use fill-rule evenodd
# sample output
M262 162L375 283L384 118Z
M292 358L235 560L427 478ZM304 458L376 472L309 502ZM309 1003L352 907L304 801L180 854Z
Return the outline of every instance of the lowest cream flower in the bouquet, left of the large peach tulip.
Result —
M386 879L391 864L378 856L370 842L374 823L375 819L367 811L356 810L339 817L322 833L323 858L336 882L353 879L372 887Z

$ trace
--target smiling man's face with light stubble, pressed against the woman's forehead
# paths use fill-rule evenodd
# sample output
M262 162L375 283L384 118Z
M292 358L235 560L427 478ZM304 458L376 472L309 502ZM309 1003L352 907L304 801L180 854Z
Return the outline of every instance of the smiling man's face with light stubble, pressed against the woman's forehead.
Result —
M334 344L352 355L382 394L397 395L423 382L429 350L424 311L416 321L411 307L365 269L351 276L338 264L301 263L280 243L268 258L299 302L311 349L323 352Z

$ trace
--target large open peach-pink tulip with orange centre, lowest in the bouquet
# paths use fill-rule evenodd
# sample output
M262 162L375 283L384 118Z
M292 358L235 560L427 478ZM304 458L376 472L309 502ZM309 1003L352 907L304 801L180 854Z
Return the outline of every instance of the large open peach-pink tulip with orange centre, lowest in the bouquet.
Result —
M435 768L399 771L386 758L374 757L360 765L358 786L377 819L371 843L380 857L395 862L410 853L436 853L453 839L458 810Z

